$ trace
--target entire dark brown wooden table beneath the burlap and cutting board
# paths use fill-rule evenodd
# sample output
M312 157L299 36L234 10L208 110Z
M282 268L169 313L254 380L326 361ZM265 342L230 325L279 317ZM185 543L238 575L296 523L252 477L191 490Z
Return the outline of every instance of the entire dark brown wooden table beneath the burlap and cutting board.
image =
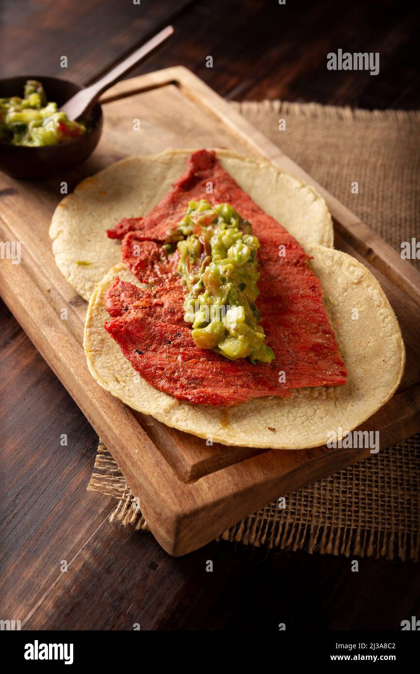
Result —
M408 3L4 0L2 7L2 77L65 75L87 84L171 22L175 36L133 75L182 64L235 100L420 104L420 22ZM326 54L338 48L380 52L380 75L327 71ZM150 534L110 525L114 501L86 491L98 437L3 303L0 323L1 618L51 630L133 623L276 630L280 622L289 630L398 630L418 613L413 565L361 559L355 574L344 557L224 542L173 559Z

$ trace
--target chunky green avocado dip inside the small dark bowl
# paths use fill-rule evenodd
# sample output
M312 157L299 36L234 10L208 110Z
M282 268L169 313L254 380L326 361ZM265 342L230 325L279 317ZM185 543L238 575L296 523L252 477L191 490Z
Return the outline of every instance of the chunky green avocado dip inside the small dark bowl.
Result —
M57 103L47 102L44 88L36 80L26 82L24 98L0 98L0 141L40 147L65 143L84 133L84 124L57 111Z

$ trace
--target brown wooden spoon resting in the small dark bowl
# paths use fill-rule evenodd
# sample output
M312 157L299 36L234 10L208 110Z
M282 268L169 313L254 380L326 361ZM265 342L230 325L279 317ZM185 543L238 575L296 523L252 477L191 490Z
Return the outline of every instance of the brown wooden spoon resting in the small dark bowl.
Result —
M116 65L115 68L104 75L103 78L100 78L98 82L94 82L94 84L86 87L86 89L82 89L74 96L71 96L71 98L61 106L61 112L66 113L69 119L78 119L78 117L81 117L84 113L88 113L105 90L112 84L115 84L122 75L125 75L127 71L145 59L146 56L149 56L156 47L159 47L159 45L162 44L164 40L167 40L172 34L172 26L167 26L161 30L157 35L148 40L146 44L143 44L142 47L130 54L127 59L124 59L124 61L121 61L121 63Z

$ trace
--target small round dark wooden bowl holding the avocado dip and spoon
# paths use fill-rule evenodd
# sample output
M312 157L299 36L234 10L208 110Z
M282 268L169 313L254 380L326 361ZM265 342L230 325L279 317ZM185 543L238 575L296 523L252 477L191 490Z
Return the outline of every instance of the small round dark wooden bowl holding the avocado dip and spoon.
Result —
M59 78L47 78L42 75L0 80L0 98L23 96L26 80L38 80L44 86L47 100L61 106L73 94L84 87ZM85 119L84 119L85 121ZM102 133L102 108L96 103L86 117L88 132L67 143L47 145L40 148L11 145L0 141L0 171L15 178L36 180L48 176L59 177L61 173L82 164L96 148Z

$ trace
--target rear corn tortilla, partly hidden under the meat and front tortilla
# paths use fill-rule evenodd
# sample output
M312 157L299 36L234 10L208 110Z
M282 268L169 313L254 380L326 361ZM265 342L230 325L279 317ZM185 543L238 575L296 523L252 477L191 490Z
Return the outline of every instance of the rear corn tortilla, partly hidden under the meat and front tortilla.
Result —
M194 150L123 159L86 178L59 203L50 237L55 262L69 284L88 300L96 283L121 260L121 241L107 229L122 218L146 215L185 173ZM301 243L332 247L332 220L318 192L270 162L216 150L240 187Z

